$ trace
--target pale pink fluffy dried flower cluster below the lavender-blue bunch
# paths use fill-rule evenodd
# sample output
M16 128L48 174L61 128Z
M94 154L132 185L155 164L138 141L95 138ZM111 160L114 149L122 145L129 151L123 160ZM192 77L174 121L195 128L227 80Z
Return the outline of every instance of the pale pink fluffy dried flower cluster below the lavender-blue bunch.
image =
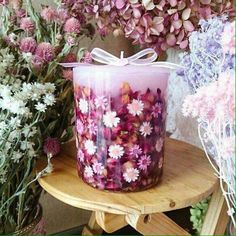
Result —
M193 95L188 95L183 103L183 115L198 117L211 122L216 117L234 121L235 79L234 71L221 73L218 81L203 86Z

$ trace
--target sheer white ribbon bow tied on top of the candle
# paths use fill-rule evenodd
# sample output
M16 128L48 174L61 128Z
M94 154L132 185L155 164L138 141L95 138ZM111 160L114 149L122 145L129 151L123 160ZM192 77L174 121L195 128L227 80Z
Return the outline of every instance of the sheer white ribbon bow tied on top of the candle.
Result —
M142 59L145 56L148 56ZM157 53L152 48L144 49L131 57L124 58L124 52L121 51L120 58L106 52L101 48L94 48L91 52L91 57L94 61L100 62L106 65L114 66L126 66L126 65L139 65L139 66L155 66L155 67L165 67L168 69L177 69L182 66L171 63L171 62L155 62L157 59ZM64 67L76 67L81 65L81 63L60 63Z

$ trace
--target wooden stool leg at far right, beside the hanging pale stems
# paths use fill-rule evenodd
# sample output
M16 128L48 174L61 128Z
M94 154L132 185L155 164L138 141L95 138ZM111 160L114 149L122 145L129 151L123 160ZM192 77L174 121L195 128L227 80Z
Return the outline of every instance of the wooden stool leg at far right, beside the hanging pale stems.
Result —
M227 204L218 186L212 194L201 235L223 235L228 222Z

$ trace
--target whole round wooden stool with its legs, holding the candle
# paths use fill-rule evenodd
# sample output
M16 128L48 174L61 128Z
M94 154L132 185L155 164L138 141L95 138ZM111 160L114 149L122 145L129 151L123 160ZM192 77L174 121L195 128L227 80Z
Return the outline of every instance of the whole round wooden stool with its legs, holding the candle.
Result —
M212 193L201 234L223 234L229 219L226 204L204 152L173 139L167 139L165 150L162 181L146 191L112 193L85 184L77 175L74 142L53 158L53 173L39 183L62 202L93 211L83 235L112 233L126 225L143 235L189 235L162 212L191 206ZM42 161L38 169L44 166Z

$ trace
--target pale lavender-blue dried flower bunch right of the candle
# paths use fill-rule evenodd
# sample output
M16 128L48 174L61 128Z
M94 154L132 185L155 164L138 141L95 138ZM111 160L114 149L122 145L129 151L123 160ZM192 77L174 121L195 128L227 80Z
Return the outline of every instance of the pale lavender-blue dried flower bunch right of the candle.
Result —
M181 55L181 65L186 69L177 73L187 80L193 91L217 80L219 73L233 68L234 57L224 52L221 43L225 24L230 27L230 23L225 21L225 17L200 20L201 30L194 31L189 38L190 53Z

